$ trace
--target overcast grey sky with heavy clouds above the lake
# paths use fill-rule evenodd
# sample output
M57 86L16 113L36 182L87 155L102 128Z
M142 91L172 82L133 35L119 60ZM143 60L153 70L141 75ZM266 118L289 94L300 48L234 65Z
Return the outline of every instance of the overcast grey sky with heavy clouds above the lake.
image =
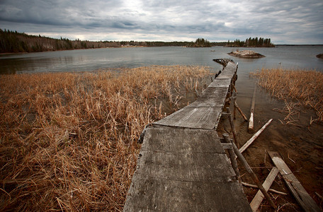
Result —
M323 44L323 0L0 0L0 28L72 40Z

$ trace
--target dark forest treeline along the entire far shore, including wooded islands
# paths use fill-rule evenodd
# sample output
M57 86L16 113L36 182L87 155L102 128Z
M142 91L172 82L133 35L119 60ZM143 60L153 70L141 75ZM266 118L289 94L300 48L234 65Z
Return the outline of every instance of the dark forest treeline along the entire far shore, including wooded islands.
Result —
M245 42L235 40L234 42L209 42L204 38L198 38L195 42L162 42L162 41L89 41L69 40L68 38L55 39L41 35L27 35L17 31L0 29L0 53L19 52L46 52L72 49L94 49L107 47L274 47L269 39L252 38Z

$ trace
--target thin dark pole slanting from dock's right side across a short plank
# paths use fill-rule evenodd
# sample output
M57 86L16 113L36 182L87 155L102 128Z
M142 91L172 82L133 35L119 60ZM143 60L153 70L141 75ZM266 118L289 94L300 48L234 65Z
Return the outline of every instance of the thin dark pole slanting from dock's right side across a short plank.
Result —
M257 187L259 187L259 189L263 193L263 196L265 196L265 198L267 199L267 201L269 202L269 204L271 204L271 206L276 209L276 205L273 203L273 200L271 199L271 196L269 196L268 192L266 192L266 189L263 188L263 185L259 181L259 179L256 176L256 174L254 173L254 171L251 170L251 167L246 162L246 159L244 158L244 156L242 155L242 153L240 153L239 149L234 144L234 142L231 142L231 143L232 143L232 147L233 147L234 153L237 155L237 158L240 160L240 162L242 163L242 165L244 165L244 168L246 169L246 172L249 173L249 175L251 176L251 178L254 180L254 183L257 185Z

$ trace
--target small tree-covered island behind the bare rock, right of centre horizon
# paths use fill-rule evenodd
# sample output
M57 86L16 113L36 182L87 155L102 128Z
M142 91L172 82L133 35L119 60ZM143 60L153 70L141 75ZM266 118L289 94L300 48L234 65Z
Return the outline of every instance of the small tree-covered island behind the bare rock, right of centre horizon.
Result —
M246 41L234 40L230 42L228 40L226 47L275 47L275 45L271 43L270 38L249 37L246 38Z

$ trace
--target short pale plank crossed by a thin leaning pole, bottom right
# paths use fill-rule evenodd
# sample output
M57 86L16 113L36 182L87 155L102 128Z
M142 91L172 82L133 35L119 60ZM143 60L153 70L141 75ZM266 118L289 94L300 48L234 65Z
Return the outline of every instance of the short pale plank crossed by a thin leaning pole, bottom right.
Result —
M273 167L268 177L266 178L265 182L263 182L263 188L266 189L266 191L268 191L268 189L271 187L271 184L273 184L273 181L275 180L277 174L278 174L278 169L276 167ZM261 202L263 201L263 198L264 196L259 190L256 196L254 196L254 199L252 199L250 203L250 207L252 211L257 211Z

